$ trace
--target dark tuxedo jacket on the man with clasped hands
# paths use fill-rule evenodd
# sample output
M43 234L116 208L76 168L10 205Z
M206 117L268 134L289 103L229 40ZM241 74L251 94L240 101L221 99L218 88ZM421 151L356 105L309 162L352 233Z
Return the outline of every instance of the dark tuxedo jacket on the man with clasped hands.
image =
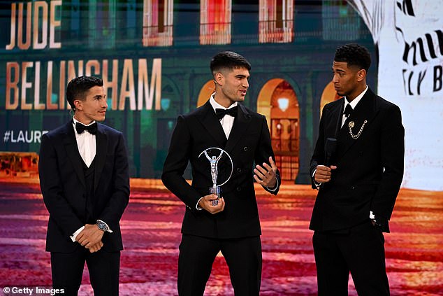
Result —
M94 216L112 233L103 235L103 250L123 248L119 220L129 202L129 166L121 132L97 124L94 173ZM46 251L70 253L81 247L70 236L87 221L87 188L72 122L44 134L38 170L49 211ZM89 224L90 221L89 221Z

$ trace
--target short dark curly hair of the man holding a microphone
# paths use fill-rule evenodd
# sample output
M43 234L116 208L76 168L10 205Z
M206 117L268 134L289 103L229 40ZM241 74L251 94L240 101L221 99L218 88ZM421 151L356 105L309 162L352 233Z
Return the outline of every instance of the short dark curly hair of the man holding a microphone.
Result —
M368 71L371 65L371 55L368 48L357 43L349 43L335 50L334 61L347 62L348 66L358 66Z

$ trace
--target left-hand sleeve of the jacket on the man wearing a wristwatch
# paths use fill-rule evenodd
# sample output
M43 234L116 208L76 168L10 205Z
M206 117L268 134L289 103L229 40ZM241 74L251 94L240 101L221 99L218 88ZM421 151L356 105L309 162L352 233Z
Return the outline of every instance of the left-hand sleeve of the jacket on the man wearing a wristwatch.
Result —
M55 220L57 226L64 232L66 238L76 230L84 226L80 218L75 214L72 207L64 197L64 188L59 174L57 153L48 134L42 136L40 155L38 159L38 175L40 188L50 217Z

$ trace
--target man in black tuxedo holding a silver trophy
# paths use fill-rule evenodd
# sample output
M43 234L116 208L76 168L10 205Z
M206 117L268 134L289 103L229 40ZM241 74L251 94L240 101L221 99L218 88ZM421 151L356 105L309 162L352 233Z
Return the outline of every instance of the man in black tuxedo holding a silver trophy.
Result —
M245 100L251 65L235 52L220 52L210 69L215 93L187 115L180 115L170 141L161 179L186 205L178 260L179 295L203 295L212 263L222 251L235 295L259 295L261 283L261 228L254 179L276 195L280 178L266 118L240 102ZM222 186L222 197L210 195L212 172L203 151L225 150L233 160L233 176ZM212 160L209 155L209 160ZM199 157L201 155L201 157ZM226 157L226 155L222 155ZM192 184L183 178L191 162ZM217 163L218 182L231 172L227 159ZM254 162L256 167L254 167Z

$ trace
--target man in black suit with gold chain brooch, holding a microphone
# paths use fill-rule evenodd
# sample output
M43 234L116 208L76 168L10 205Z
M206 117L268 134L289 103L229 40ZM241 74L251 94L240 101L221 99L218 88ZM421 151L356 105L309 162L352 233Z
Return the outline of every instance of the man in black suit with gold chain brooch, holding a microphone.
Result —
M320 296L348 295L349 272L358 295L389 295L382 232L402 182L405 130L400 108L366 85L369 66L363 46L337 48L333 83L344 98L324 106L311 160Z

